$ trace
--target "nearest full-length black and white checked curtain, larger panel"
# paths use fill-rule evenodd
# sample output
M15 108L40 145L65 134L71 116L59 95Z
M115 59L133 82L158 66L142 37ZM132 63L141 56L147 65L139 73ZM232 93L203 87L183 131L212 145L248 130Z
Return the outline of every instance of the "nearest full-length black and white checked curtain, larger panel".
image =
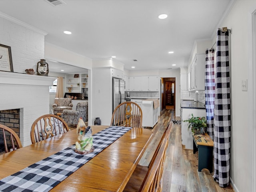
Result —
M214 103L214 175L220 187L230 176L230 71L228 31L217 30Z

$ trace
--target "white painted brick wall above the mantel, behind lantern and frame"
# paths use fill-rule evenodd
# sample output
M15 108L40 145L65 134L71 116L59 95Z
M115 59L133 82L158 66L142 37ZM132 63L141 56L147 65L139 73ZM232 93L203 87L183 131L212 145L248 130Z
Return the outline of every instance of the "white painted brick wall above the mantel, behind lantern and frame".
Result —
M14 72L25 73L44 58L44 35L0 17L0 44L11 47Z

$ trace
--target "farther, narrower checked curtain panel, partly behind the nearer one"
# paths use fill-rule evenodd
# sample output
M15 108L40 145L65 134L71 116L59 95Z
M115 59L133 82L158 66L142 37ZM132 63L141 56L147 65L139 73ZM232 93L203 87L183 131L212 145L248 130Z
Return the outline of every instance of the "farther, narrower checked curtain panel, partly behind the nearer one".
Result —
M215 77L214 77L214 49L205 51L205 108L207 120L207 132L213 139L214 132L214 96L215 96Z

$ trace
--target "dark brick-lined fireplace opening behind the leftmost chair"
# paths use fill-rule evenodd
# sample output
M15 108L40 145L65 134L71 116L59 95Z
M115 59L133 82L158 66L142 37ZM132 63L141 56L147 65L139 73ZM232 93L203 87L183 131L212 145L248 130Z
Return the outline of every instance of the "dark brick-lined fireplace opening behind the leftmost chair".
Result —
M0 124L11 128L20 137L20 109L0 110ZM6 135L6 141L8 148L11 148L11 139L8 134ZM16 141L14 141L14 144L15 143ZM3 132L0 131L0 154L3 153L5 153L4 135Z

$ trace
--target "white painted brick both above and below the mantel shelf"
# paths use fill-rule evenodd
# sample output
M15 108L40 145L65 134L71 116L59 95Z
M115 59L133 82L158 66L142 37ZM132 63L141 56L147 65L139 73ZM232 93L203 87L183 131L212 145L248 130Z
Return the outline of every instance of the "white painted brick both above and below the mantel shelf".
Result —
M0 17L0 44L11 47L14 72L25 73L44 58L44 35ZM33 81L33 78L31 78ZM0 81L0 110L20 108L20 140L31 144L34 120L49 113L49 86L6 84ZM8 83L8 82L7 82Z

